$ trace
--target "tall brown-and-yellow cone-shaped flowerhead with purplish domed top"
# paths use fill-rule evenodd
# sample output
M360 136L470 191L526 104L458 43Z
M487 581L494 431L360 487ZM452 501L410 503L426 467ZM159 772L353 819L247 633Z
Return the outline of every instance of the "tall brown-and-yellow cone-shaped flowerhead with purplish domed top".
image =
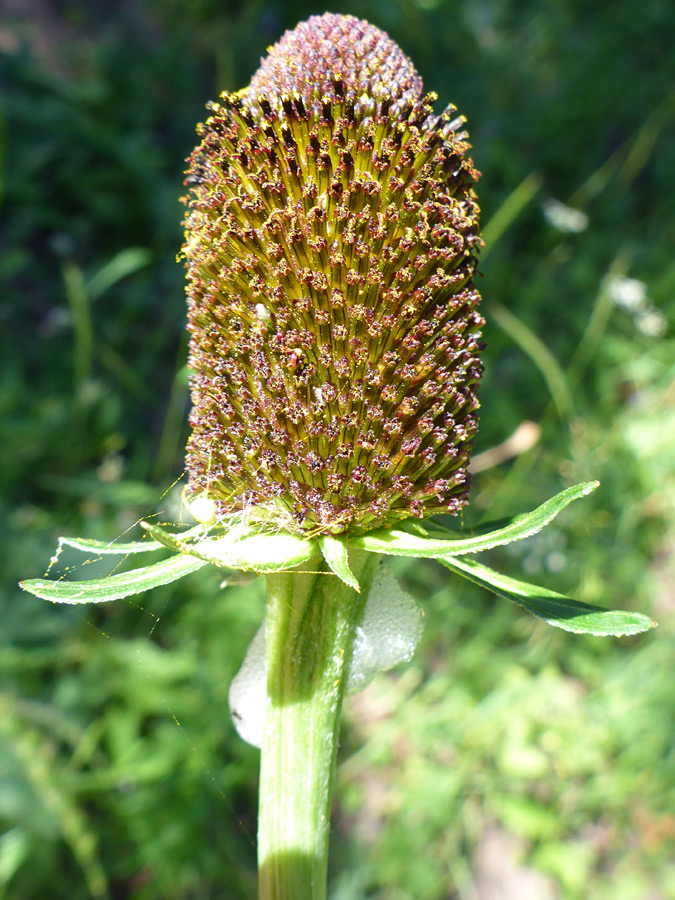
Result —
M483 319L464 120L384 32L314 16L199 127L188 489L311 535L467 502Z

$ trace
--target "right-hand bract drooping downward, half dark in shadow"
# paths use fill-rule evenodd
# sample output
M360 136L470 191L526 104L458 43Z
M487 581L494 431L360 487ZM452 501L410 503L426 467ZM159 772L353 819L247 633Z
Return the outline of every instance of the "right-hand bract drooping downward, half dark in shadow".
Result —
M642 613L603 609L590 603L580 603L578 600L565 597L564 594L509 578L474 560L448 559L441 562L446 568L487 588L493 594L513 600L549 625L573 631L575 634L622 637L648 631L656 625L656 622Z

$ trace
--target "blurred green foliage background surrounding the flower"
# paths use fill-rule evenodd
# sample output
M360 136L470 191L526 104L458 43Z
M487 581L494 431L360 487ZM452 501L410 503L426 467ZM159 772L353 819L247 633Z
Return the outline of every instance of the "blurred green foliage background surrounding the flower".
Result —
M236 738L226 695L260 583L222 591L200 572L84 610L15 583L43 573L59 533L111 539L153 509L178 521L182 161L205 101L245 84L267 45L323 9L6 9L0 894L251 897L257 753ZM484 173L477 450L524 421L541 438L476 476L465 524L599 478L583 508L489 562L651 612L661 628L623 642L563 635L433 564L397 565L424 598L425 644L414 667L348 704L333 896L491 900L492 855L516 879L512 896L537 875L539 900L674 898L672 10L340 11L388 30L467 115ZM92 561L87 574L99 572Z

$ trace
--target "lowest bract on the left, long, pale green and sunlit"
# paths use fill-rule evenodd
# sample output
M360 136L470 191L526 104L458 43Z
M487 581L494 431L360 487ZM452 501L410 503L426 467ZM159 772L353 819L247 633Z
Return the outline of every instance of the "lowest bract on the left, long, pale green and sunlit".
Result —
M162 584L177 581L190 572L201 569L204 562L191 556L171 556L153 566L132 569L119 575L97 578L94 581L50 581L34 578L22 581L24 591L54 603L101 603L140 594Z

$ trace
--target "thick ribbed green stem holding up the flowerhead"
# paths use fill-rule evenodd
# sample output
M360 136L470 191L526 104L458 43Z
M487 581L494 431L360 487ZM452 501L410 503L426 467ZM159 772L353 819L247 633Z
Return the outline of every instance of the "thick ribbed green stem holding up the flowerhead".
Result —
M360 594L318 560L315 572L267 576L259 900L325 900L342 698L377 561L350 554Z

